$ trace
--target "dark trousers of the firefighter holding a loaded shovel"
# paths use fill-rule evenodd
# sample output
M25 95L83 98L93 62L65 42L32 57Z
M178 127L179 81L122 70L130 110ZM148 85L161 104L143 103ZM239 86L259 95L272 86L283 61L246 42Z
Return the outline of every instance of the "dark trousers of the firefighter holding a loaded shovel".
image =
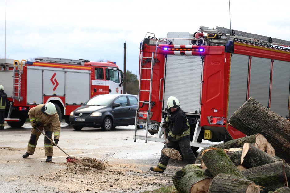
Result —
M187 161L188 164L193 164L195 162L195 155L190 147L190 138L189 136L186 136L182 139L179 139L177 141L170 141L170 143L167 144L168 148L177 149L179 146L180 151L184 157L184 159ZM165 145L162 149L165 148ZM167 157L164 153L161 153L160 160L157 164L157 167L165 170L167 167L169 161L169 157Z

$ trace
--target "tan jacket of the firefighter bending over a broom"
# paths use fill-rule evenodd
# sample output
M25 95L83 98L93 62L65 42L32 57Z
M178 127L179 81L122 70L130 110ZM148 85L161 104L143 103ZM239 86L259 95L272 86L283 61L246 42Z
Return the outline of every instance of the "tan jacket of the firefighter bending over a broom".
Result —
M58 114L46 115L44 114L44 104L37 105L29 110L28 116L32 127L39 124L40 128L52 127L54 139L60 137L60 120Z

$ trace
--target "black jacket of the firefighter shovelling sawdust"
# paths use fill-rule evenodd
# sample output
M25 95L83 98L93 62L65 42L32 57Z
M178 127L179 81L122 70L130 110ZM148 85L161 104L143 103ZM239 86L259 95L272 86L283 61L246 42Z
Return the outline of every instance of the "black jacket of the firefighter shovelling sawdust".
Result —
M169 141L179 140L185 136L190 135L190 127L185 113L180 109L176 111L168 112L165 119L167 127L169 127L169 133L167 139Z

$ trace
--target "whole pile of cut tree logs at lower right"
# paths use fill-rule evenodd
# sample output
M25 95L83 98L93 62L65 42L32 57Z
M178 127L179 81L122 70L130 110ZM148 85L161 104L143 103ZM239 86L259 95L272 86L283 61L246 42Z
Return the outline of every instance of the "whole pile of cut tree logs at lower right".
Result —
M229 119L248 135L204 148L173 176L179 192L290 192L290 122L250 98Z

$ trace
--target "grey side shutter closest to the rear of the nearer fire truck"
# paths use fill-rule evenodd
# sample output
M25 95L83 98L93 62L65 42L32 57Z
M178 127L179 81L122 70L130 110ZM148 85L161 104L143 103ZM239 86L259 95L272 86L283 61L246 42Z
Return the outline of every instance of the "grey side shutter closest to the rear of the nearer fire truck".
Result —
M232 54L230 61L230 88L228 117L247 100L249 56Z

